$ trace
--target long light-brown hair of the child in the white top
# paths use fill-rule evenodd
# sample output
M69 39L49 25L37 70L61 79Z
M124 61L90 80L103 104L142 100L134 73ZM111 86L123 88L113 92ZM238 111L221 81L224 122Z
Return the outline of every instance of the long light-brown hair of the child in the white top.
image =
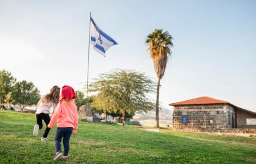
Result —
M42 98L42 103L48 103L49 101L52 101L52 103L58 104L60 99L60 87L53 86L50 93L47 95L44 95Z

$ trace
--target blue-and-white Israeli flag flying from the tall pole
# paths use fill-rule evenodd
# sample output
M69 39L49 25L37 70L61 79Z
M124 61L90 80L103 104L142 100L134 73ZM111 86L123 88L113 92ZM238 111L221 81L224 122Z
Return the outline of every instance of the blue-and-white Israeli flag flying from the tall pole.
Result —
M107 33L99 29L99 26L91 18L91 44L93 44L93 49L105 56L105 52L111 47L118 43Z

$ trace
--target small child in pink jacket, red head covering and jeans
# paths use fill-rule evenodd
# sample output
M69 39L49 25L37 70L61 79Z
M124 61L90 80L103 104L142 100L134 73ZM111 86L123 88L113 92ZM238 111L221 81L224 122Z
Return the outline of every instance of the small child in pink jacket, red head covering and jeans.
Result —
M66 159L69 151L69 139L73 132L73 129L77 129L78 115L76 104L74 99L76 94L74 89L70 86L62 87L62 99L55 108L54 115L52 115L51 121L48 124L49 128L52 128L57 121L57 131L55 132L55 156L54 160ZM64 151L61 152L61 145L63 138Z

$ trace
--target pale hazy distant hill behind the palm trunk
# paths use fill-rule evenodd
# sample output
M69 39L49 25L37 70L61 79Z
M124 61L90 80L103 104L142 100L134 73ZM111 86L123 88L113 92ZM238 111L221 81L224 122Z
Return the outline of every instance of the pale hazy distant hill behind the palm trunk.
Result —
M160 127L166 127L167 125L172 126L172 111L169 109L162 109L159 112ZM132 121L140 121L142 126L153 127L155 123L155 111L151 112L140 112L135 114Z

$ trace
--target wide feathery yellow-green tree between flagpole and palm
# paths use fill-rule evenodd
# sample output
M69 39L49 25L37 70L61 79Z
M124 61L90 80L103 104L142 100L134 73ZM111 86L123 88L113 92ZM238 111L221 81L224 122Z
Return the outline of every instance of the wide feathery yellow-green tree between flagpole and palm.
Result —
M155 83L144 73L134 70L112 70L103 73L90 84L90 92L97 95L91 106L105 112L119 111L126 120L135 111L150 111L155 104L148 94L155 92Z

